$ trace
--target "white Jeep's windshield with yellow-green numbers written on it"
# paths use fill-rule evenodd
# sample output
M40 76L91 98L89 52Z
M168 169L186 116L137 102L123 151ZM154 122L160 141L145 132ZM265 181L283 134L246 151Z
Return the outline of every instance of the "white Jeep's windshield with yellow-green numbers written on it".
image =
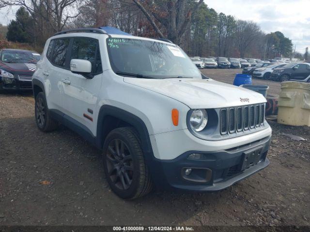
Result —
M113 71L149 78L199 78L202 74L190 58L173 44L139 39L108 38L107 47ZM131 75L133 76L133 75ZM142 78L143 78L142 76Z

